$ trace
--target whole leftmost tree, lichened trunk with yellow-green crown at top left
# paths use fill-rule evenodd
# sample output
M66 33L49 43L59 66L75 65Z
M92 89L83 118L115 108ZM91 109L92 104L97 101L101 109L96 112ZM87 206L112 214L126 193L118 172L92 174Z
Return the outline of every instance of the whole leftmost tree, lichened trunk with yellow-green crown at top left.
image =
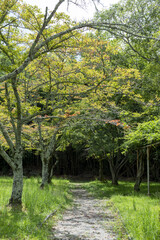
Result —
M0 130L10 148L10 152L7 153L1 145L0 153L13 170L14 180L10 204L14 205L21 204L23 190L22 126L39 114L39 112L34 112L28 116L27 112L23 112L23 100L19 92L19 84L21 84L21 78L23 78L22 72L34 59L63 46L63 42L73 36L73 31L84 28L87 24L77 24L75 26L72 24L71 27L68 27L70 21L66 21L62 28L57 24L56 21L61 18L61 15L56 16L56 11L64 0L58 1L51 13L48 13L46 8L44 19L42 19L43 15L36 7L20 4L18 1L12 1L11 4L7 2L2 2L0 21L1 53L7 67L3 68L0 82L1 84L4 81L6 82L6 105L14 140L11 139L10 131L7 131L3 124L4 119L1 119ZM55 22L53 20L54 16ZM21 31L23 28L27 32L25 36L24 32ZM12 101L9 94L10 90L8 90L10 87L13 92Z

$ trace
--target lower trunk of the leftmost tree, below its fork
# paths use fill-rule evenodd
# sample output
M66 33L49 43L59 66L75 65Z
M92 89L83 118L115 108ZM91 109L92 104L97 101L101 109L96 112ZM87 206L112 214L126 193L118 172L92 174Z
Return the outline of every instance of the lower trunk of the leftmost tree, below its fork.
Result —
M22 204L22 191L23 191L23 166L22 154L19 153L18 158L15 160L15 168L13 169L13 186L12 194L9 200L10 205Z

